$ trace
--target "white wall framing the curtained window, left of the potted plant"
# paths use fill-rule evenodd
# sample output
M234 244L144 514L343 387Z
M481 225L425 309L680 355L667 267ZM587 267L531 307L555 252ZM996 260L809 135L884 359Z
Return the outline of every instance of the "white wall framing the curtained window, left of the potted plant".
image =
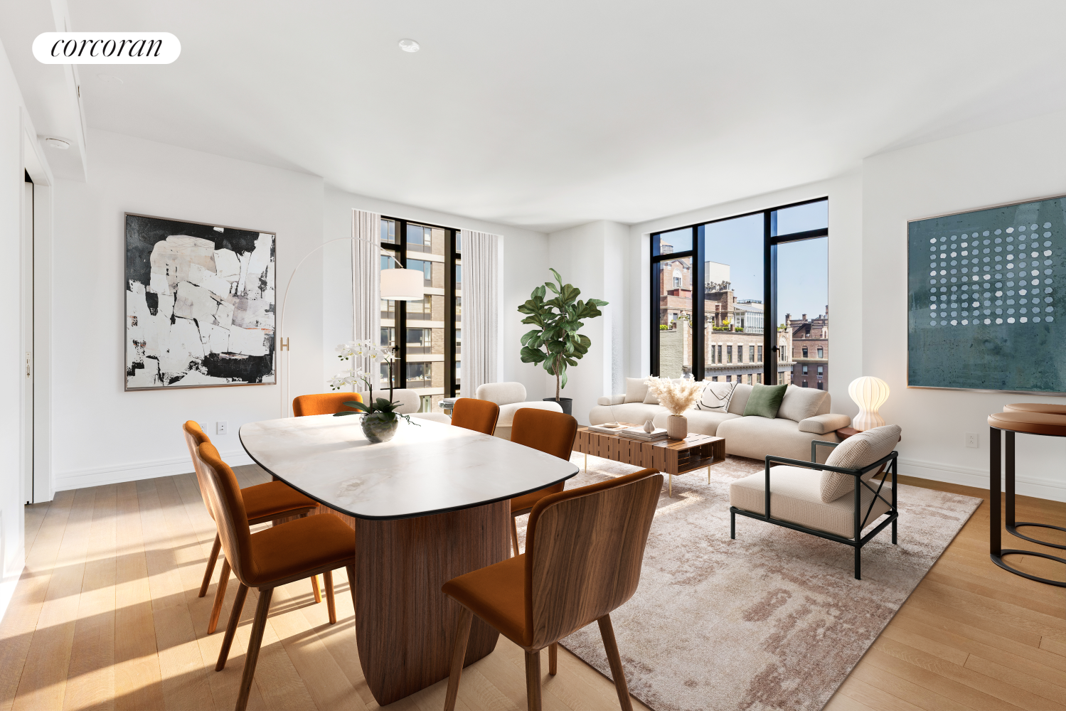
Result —
M324 240L335 240L352 237L352 210L368 210L393 217L422 221L431 225L472 229L490 232L501 237L502 273L500 278L500 360L498 363L499 379L517 381L526 386L527 397L539 400L548 394L544 371L538 371L531 365L519 360L521 345L518 339L528 328L522 326L522 316L518 306L529 298L530 292L544 278L551 276L548 272L547 254L548 238L543 232L533 232L520 227L500 225L481 220L472 220L459 215L426 210L409 205L390 203L364 195L355 195L332 187L325 189L324 208ZM338 360L334 346L352 338L352 263L351 247L345 243L329 245L324 248L327 257L323 271L323 293L326 304L323 308L323 358L326 375L333 375L338 369ZM348 300L346 303L344 300ZM324 384L318 390L321 392ZM295 397L300 392L293 390Z

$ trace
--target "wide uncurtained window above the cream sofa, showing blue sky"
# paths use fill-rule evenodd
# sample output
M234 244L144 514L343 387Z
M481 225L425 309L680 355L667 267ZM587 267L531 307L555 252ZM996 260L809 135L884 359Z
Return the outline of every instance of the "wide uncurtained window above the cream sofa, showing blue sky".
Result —
M653 233L652 374L827 388L828 233L826 198Z

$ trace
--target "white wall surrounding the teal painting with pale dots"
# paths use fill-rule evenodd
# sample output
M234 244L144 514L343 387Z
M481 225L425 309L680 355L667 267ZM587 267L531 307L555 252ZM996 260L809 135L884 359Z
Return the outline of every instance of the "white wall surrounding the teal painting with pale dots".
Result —
M987 416L1036 394L906 387L907 221L1066 193L1066 113L905 148L863 162L863 371L892 394L882 409L903 427L901 472L988 487ZM834 332L834 337L839 332ZM964 446L966 433L980 447ZM1019 435L1018 492L1066 501L1066 440Z

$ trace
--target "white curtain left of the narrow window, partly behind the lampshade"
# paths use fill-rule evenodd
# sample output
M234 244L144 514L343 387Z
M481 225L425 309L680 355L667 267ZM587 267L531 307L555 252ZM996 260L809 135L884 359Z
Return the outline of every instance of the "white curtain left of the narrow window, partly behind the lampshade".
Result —
M352 237L352 338L357 341L382 338L382 215L353 210ZM356 363L364 370L370 362ZM376 375L374 376L376 377ZM375 381L376 385L376 381Z

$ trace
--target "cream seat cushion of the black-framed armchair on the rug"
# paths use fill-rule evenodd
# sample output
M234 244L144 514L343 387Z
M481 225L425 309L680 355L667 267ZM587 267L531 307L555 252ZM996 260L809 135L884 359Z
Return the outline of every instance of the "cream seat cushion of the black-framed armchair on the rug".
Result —
M730 505L754 514L764 514L766 511L765 486L766 474L764 471L738 479L729 485ZM855 536L854 497L844 497L827 503L822 501L820 490L821 472L819 470L784 465L773 467L770 470L771 518L834 533L844 538L853 538ZM873 492L863 487L861 497L865 514L873 499ZM872 526L882 514L888 512L888 504L877 499L870 517L867 519L867 528Z

